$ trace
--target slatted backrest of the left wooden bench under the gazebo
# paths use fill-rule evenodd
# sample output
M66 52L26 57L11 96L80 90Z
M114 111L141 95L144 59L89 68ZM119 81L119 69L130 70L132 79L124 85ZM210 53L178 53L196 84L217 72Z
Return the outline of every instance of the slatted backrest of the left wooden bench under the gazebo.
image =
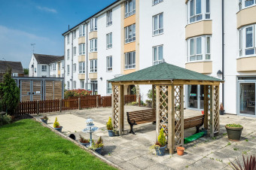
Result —
M156 118L155 109L147 109L142 111L130 111L127 112L127 118L130 120L152 120Z

